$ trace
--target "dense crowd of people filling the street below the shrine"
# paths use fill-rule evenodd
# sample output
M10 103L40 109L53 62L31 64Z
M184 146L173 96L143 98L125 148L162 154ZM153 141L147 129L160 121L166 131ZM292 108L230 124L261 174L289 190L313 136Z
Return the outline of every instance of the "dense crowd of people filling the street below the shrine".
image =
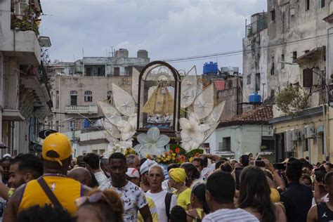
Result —
M137 155L73 161L62 133L41 157L1 159L0 213L11 221L333 221L333 166L201 155L166 169ZM332 198L331 198L332 197Z

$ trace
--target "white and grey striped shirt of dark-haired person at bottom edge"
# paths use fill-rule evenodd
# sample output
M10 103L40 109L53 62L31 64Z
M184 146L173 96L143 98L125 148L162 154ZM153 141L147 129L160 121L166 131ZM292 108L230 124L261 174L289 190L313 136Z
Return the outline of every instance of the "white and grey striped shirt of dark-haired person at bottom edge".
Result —
M253 214L249 214L244 209L218 209L211 214L207 214L202 222L259 222Z

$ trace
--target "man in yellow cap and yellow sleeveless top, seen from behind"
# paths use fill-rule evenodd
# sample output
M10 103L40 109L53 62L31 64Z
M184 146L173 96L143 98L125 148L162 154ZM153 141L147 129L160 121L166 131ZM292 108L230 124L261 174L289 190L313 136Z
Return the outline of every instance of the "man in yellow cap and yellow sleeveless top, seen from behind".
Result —
M45 138L42 147L44 174L18 188L5 209L4 221L17 221L24 209L52 204L64 209L72 216L77 211L75 200L89 188L72 178L67 178L67 170L72 160L70 140L62 133L52 133Z

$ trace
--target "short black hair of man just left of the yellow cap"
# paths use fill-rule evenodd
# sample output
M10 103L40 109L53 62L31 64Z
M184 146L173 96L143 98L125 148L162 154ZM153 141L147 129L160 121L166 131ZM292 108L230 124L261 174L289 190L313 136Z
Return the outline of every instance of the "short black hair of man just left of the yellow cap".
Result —
M39 178L43 174L43 163L41 158L31 154L20 154L13 159L12 164L18 164L18 170L30 172L34 178Z

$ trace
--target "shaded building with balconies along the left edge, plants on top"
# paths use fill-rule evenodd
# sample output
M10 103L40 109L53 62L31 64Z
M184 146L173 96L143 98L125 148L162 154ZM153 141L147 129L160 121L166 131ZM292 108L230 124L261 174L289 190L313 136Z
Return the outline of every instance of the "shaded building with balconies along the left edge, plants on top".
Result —
M0 11L1 154L35 152L52 105L38 31L41 2L4 0Z

